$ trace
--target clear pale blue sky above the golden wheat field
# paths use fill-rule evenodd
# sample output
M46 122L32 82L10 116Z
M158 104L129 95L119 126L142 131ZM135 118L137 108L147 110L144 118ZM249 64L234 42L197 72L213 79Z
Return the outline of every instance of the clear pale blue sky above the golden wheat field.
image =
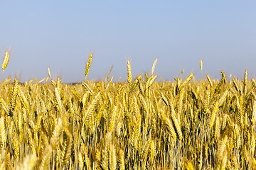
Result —
M1 1L0 51L11 47L5 79L43 79L50 67L63 82L127 79L151 72L174 80L184 68L219 79L220 71L256 75L256 1Z

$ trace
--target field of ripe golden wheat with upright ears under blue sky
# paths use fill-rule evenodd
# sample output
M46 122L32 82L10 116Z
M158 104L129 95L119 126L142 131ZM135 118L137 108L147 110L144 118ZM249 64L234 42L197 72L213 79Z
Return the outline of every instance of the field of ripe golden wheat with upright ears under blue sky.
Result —
M5 53L5 60L8 57ZM0 84L0 169L256 169L256 83L185 79ZM3 62L4 69L8 64ZM201 61L201 69L203 62ZM111 70L110 70L111 71Z

